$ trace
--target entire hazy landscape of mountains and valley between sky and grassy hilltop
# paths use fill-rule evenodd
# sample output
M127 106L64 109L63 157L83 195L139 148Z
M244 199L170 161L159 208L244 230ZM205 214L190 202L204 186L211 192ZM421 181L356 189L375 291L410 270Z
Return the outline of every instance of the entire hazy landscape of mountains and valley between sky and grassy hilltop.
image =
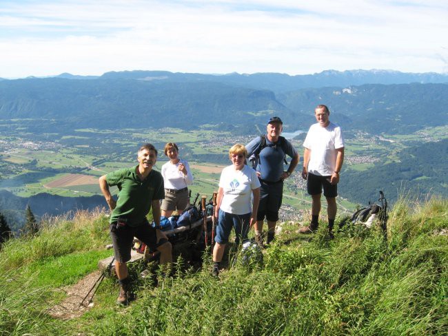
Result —
M281 116L284 132L303 139L314 107L328 105L347 140L341 209L383 190L420 198L448 195L448 75L380 70L318 74L108 72L0 81L0 209L14 229L26 204L58 215L105 206L96 178L134 165L136 147L168 141L194 165L196 193L217 189L227 150L265 132ZM157 167L166 158L161 154ZM301 167L299 165L298 167ZM363 185L362 188L359 188ZM283 219L309 207L296 172L285 188Z

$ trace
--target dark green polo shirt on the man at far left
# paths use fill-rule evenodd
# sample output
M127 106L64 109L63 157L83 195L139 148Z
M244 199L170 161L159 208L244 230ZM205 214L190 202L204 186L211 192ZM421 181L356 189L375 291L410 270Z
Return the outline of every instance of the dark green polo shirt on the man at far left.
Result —
M116 208L110 216L111 223L122 217L128 219L131 227L135 227L145 220L152 200L165 198L163 177L159 171L152 169L145 180L141 181L136 174L136 167L112 171L105 176L110 187L116 185L119 188Z

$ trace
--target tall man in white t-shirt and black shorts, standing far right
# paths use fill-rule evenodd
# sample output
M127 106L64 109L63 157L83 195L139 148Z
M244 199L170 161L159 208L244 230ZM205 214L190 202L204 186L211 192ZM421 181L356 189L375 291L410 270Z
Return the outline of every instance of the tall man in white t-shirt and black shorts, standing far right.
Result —
M303 143L302 171L302 177L307 180L307 191L312 196L312 220L309 226L301 228L299 232L312 233L317 230L323 189L328 204L329 236L333 238L339 174L344 161L344 139L340 127L330 122L327 106L318 105L314 113L317 123L309 127Z

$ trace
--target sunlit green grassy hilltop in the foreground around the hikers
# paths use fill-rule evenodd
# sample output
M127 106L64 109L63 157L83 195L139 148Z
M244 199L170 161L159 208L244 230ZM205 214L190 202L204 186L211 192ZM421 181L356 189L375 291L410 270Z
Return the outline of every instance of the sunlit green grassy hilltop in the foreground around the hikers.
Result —
M0 335L447 335L447 213L448 200L399 200L387 240L351 227L330 241L325 225L310 240L283 223L262 268L237 262L216 279L208 255L202 271L179 262L158 286L136 280L139 298L126 308L107 277L94 306L72 319L49 310L112 255L108 218L57 218L0 251Z

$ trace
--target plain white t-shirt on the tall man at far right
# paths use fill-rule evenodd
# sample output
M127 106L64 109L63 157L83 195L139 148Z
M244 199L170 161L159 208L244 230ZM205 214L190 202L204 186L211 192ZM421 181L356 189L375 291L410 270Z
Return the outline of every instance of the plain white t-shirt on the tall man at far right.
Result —
M303 147L311 150L308 172L329 176L336 168L336 149L344 147L343 134L340 127L334 123L330 122L327 127L316 123L309 127Z

